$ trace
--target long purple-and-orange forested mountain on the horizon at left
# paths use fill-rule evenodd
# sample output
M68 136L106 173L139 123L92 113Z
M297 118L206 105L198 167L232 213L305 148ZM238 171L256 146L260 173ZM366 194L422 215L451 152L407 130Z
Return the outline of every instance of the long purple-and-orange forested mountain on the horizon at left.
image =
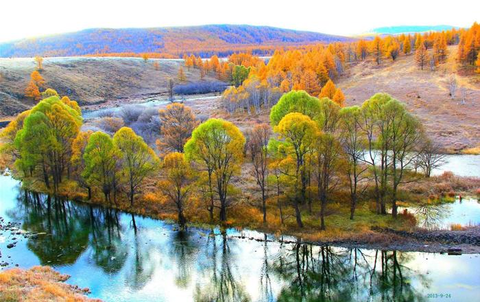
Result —
M144 52L157 52L180 57L183 54L191 53L201 56L211 56L212 54L224 56L239 50L251 50L258 54L264 54L278 46L345 40L350 40L350 38L252 25L95 28L0 43L0 57L82 56Z

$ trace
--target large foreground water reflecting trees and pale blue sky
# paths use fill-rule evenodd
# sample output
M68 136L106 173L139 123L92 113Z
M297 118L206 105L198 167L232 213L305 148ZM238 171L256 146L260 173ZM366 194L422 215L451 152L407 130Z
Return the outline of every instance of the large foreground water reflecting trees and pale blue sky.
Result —
M0 231L0 262L9 263L1 269L53 266L72 276L68 283L88 287L90 297L105 301L434 301L429 294L475 301L480 296L479 255L313 246L235 229L178 231L162 220L23 191L9 176L0 176L0 184L0 216L25 231L45 233L24 237ZM13 236L18 243L6 248Z

